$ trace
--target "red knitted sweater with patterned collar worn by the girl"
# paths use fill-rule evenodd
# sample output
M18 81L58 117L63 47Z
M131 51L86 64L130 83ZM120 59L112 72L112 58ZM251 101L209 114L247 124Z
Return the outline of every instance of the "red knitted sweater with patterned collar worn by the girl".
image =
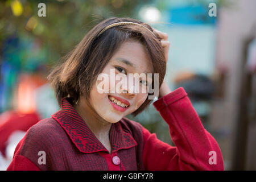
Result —
M170 127L175 147L137 122L112 124L112 152L95 137L67 99L51 118L32 126L7 170L223 170L221 150L183 88L153 103Z

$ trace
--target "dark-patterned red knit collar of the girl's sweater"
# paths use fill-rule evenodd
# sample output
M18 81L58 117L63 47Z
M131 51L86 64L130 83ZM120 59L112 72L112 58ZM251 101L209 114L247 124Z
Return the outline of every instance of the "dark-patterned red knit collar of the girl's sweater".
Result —
M108 152L66 98L61 100L61 109L52 114L52 118L63 127L80 152ZM137 146L137 142L122 129L119 122L112 124L109 137L112 152Z

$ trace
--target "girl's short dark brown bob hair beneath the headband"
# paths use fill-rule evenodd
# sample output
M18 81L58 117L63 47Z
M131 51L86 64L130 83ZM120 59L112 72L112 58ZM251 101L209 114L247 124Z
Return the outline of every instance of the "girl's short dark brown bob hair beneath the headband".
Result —
M109 28L97 37L98 33L112 23L135 22L143 24L152 31L147 23L132 18L109 18L94 26L81 42L64 57L47 79L55 90L59 105L61 99L69 97L71 104L76 103L80 96L90 96L90 89L97 76L103 71L111 57L121 44L129 39L139 40L147 50L154 73L159 73L159 88L166 74L166 61L159 36L151 34L146 28L138 25L122 25ZM154 78L152 85L154 85ZM146 100L132 115L141 113L152 100Z

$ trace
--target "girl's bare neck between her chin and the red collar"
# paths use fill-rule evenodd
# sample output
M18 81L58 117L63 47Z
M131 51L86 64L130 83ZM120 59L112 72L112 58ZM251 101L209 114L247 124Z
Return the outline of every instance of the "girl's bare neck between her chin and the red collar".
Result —
M112 123L109 123L108 121L105 121L105 119L101 118L100 115L98 115L86 101L79 100L74 107L86 125L90 130L92 130L93 134L98 139L109 136L109 130Z

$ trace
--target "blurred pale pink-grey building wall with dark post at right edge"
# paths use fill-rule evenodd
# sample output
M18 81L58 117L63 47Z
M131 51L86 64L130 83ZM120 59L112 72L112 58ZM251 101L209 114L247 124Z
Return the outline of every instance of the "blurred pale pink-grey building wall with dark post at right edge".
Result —
M226 169L256 169L256 1L218 10L216 69L220 74L213 127L223 131Z

